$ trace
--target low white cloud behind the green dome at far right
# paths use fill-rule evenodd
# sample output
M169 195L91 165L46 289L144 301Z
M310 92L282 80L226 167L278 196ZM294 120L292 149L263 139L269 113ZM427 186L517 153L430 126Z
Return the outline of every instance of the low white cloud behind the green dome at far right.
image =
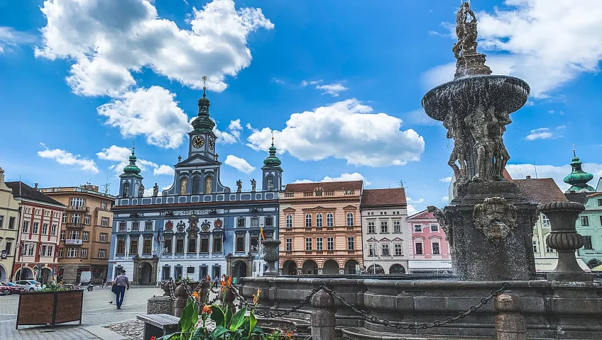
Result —
M570 153L567 154L567 161L571 158ZM602 177L602 164L596 163L584 163L582 164L584 171L593 174L593 181L589 182L589 185L595 187L596 179ZM537 169L537 176L536 174ZM568 190L571 186L569 184L564 183L563 179L565 176L571 173L571 166L569 164L562 166L554 166L554 165L540 165L534 166L533 164L508 164L506 165L506 170L513 179L525 179L526 176L531 176L531 178L552 178L556 181L557 186L559 186L562 191Z

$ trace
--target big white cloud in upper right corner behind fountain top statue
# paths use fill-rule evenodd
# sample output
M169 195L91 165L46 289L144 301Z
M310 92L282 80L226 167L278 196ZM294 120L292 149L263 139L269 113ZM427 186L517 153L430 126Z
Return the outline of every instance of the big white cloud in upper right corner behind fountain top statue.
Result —
M544 98L582 72L599 71L602 1L506 0L505 5L507 9L476 14L479 47L507 55L488 55L494 74L525 79L532 96ZM500 58L504 68L496 65ZM435 73L453 78L453 71L439 68Z

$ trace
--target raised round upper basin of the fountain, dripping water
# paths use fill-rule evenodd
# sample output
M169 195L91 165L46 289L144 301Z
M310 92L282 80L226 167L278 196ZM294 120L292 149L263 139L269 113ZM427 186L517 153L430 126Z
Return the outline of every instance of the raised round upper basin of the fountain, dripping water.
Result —
M430 118L443 121L452 111L464 118L471 108L494 106L508 114L527 103L531 89L522 79L510 76L471 76L448 81L422 97Z

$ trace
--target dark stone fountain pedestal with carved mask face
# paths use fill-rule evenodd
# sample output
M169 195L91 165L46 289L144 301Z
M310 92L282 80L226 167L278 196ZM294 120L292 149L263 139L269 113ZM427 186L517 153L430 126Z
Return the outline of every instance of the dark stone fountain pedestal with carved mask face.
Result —
M537 204L511 182L459 184L444 208L451 261L459 280L530 280L535 276Z

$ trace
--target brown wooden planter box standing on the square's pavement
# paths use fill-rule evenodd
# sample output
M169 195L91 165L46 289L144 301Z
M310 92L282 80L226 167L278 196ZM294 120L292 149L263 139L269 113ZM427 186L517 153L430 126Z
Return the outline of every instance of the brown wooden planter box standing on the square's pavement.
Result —
M82 323L84 290L32 292L19 295L16 329L23 325Z

